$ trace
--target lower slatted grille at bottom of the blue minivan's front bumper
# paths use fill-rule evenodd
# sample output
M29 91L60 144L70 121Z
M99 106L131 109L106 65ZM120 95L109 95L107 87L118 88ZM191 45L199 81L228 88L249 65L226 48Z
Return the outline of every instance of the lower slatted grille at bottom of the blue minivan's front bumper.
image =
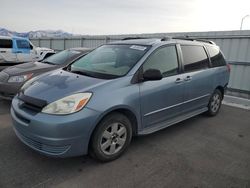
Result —
M62 154L64 152L66 152L70 147L70 146L51 146L51 145L47 145L47 144L43 144L41 142L35 141L27 136L24 136L20 132L17 132L17 134L20 137L20 139L24 143L26 143L28 146L30 146L34 149L37 149L38 151L46 152L46 153L51 154L51 155Z

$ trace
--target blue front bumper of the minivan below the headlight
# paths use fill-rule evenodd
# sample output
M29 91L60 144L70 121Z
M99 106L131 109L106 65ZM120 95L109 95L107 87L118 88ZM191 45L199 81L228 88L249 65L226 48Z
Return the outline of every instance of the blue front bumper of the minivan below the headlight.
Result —
M88 153L89 140L99 112L84 108L70 115L49 115L19 108L12 100L11 117L17 137L47 156L72 157Z

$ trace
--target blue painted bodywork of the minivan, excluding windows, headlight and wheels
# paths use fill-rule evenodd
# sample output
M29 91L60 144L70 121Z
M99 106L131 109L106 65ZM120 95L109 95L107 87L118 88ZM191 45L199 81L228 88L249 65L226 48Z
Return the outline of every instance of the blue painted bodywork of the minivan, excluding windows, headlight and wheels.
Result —
M92 93L92 96L82 110L69 115L49 115L22 108L23 101L16 96L11 116L17 136L45 155L77 156L88 153L93 131L113 111L131 112L138 135L205 112L215 89L224 88L228 83L227 66L180 72L157 81L133 82L137 71L154 50L173 43L152 43L151 49L128 74L116 79L99 79L63 69L41 75L21 91L23 95L47 104L76 93ZM183 81L177 83L178 78Z

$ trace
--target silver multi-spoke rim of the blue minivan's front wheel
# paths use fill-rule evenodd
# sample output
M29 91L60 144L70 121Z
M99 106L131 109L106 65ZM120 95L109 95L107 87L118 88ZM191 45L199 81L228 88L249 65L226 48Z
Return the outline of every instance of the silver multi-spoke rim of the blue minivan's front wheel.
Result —
M127 129L122 123L113 123L103 132L100 146L103 153L113 155L118 153L125 145Z

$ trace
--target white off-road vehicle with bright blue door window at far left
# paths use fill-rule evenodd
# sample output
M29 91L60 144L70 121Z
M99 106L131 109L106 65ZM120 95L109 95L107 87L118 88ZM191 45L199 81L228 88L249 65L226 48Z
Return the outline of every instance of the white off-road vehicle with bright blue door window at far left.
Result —
M35 47L28 38L0 36L0 65L41 61L55 51Z

